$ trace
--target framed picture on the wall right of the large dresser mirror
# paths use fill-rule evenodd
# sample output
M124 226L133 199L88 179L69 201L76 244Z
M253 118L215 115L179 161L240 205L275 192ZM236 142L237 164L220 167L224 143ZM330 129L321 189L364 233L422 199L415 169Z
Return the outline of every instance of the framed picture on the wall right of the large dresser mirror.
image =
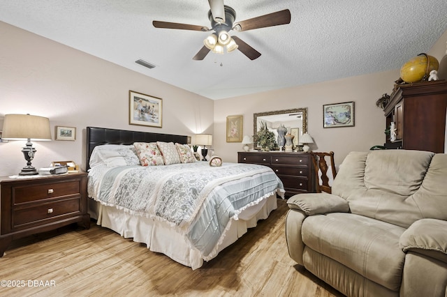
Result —
M323 128L353 127L354 102L323 105Z

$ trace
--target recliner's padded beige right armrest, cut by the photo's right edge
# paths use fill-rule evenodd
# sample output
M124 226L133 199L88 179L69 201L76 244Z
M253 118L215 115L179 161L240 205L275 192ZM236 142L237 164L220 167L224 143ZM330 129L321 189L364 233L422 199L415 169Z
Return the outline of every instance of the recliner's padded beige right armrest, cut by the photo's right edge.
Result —
M400 236L404 252L417 252L447 263L447 221L421 219L413 222Z

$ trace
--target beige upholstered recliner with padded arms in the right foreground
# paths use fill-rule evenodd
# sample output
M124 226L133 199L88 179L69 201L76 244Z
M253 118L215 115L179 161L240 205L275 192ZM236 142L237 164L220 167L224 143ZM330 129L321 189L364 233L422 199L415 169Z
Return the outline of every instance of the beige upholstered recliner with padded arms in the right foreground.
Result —
M347 296L447 296L447 154L353 152L288 199L290 257Z

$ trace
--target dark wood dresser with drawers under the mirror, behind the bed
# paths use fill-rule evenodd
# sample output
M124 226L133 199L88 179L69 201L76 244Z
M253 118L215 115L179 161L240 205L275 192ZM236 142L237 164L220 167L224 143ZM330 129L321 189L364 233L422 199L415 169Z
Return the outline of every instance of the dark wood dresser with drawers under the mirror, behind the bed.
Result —
M310 153L238 152L237 162L272 168L281 179L287 197L315 192L314 165Z

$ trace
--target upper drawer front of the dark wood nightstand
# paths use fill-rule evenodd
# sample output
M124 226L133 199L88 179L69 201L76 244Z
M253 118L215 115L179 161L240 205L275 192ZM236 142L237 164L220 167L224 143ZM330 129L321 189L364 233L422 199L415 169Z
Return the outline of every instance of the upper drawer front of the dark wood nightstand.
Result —
M75 195L80 193L79 181L63 183L42 183L41 185L24 185L13 187L13 205L41 199Z

